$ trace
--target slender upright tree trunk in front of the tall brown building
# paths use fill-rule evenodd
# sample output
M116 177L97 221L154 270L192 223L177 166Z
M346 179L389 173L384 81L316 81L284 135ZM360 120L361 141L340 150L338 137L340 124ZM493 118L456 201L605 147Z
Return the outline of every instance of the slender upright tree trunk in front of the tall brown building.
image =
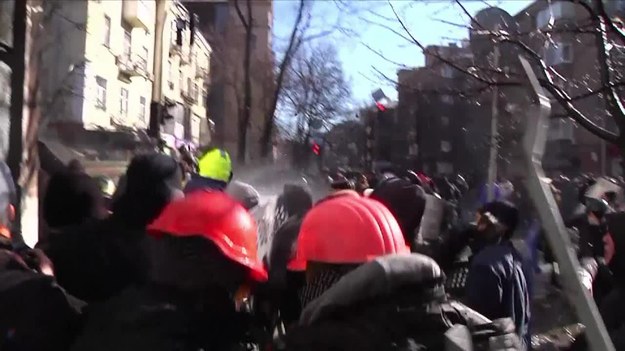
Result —
M247 131L252 117L252 77L250 77L250 65L252 58L252 35L254 21L252 19L252 1L246 0L247 24L245 27L245 51L243 53L243 111L239 114L239 139L237 145L237 159L245 164L247 151Z

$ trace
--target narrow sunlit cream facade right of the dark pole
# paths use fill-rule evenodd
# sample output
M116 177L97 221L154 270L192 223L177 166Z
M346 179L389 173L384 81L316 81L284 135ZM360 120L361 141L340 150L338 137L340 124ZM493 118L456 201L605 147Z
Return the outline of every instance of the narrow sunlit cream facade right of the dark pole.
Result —
M211 142L208 115L211 47L198 30L199 19L179 2L170 4L163 33L162 96L167 106L161 136L173 148Z

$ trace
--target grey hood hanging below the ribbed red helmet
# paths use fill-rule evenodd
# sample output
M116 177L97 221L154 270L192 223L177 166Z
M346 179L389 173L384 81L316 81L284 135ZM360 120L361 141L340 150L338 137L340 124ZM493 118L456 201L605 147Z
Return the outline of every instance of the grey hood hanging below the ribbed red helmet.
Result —
M338 310L368 300L392 296L414 287L415 293L434 291L444 296L444 273L421 254L391 255L365 263L341 278L302 311L300 325L310 325ZM438 289L440 288L440 289Z

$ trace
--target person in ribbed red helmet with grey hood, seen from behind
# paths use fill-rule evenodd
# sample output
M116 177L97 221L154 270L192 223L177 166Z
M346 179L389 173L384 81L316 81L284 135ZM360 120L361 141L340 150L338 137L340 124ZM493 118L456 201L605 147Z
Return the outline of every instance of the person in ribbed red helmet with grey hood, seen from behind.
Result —
M447 302L436 262L410 254L391 212L369 198L335 196L313 207L296 263L307 284L298 326L285 338L289 351L444 350L452 323L483 323ZM513 328L503 334L518 342Z

